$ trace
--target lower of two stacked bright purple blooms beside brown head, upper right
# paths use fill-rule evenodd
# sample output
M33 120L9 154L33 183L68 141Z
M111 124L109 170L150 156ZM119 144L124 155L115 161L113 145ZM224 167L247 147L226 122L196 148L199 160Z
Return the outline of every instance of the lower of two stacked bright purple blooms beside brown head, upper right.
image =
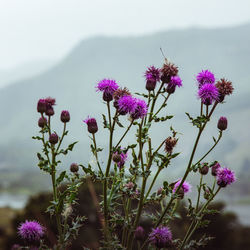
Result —
M198 96L205 105L211 105L213 101L217 101L219 97L219 91L215 85L210 83L203 84L199 91Z

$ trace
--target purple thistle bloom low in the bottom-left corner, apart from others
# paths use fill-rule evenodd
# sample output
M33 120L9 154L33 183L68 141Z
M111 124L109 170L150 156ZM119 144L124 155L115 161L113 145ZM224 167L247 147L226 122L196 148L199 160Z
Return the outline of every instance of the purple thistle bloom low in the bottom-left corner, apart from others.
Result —
M44 235L44 227L37 221L26 220L18 227L18 234L30 244L37 243Z

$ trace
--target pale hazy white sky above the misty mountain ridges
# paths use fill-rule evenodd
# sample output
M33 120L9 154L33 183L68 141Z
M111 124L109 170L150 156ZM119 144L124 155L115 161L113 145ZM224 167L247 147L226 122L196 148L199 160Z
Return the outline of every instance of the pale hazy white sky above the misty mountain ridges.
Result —
M250 21L250 0L0 0L0 69L63 57L81 39Z

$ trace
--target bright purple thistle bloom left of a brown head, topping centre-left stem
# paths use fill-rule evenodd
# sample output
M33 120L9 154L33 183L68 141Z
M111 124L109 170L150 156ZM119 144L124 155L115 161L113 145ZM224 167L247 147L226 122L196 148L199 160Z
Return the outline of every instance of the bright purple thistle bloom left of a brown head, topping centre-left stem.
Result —
M103 79L97 84L96 88L97 91L103 92L103 100L109 102L113 100L113 94L119 86L115 80Z

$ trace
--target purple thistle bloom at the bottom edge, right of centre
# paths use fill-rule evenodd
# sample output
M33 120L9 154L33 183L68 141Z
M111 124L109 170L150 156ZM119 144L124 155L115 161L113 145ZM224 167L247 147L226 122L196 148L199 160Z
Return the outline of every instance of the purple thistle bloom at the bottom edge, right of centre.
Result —
M172 244L172 233L168 227L157 227L149 234L149 242L157 248L169 247Z

